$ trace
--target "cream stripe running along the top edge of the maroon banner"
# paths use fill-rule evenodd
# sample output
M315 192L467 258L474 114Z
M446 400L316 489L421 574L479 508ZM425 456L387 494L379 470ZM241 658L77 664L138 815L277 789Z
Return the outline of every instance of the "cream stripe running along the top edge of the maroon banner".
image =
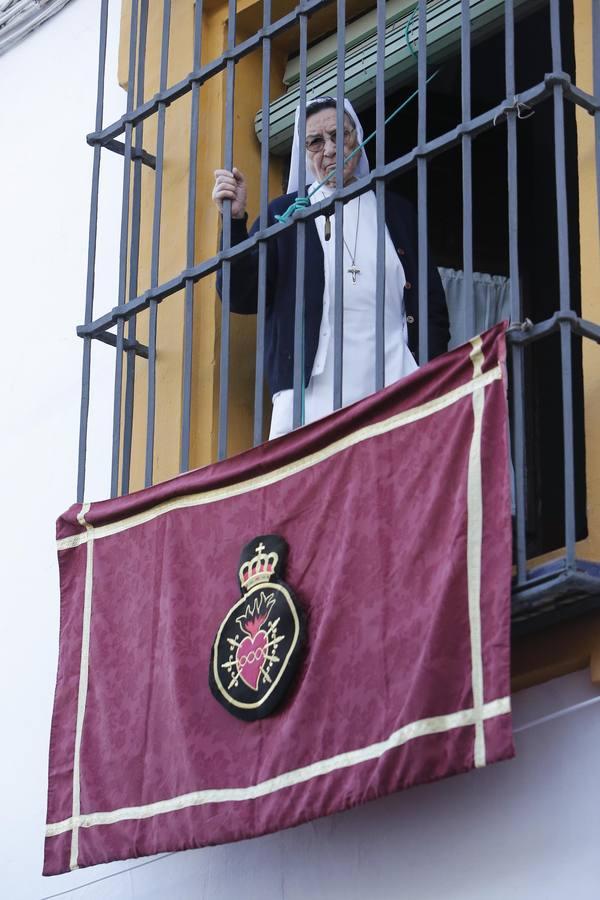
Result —
M446 394L442 394L441 397L436 397L435 400L429 400L427 403L421 404L421 406L415 406L413 409L397 413L395 416L391 416L383 422L376 422L374 425L366 425L364 428L359 428L352 434L329 444L328 447L317 450L315 453L304 456L302 459L296 460L293 463L288 463L286 466L281 466L273 472L267 472L265 475L258 475L255 478L249 478L247 481L229 485L228 487L215 488L212 491L203 491L197 494L189 494L186 497L175 497L173 500L167 500L152 509L129 516L126 519L121 519L119 522L113 522L110 525L100 525L98 528L94 528L94 538L100 540L103 537L119 534L121 531L127 531L128 528L135 528L136 525L143 525L146 522L151 522L153 519L164 516L174 509L188 509L194 506L204 506L208 503L216 503L219 500L226 500L229 497L237 497L240 494L256 491L259 488L267 487L270 484L276 484L278 481L283 481L284 478L289 478L291 475L303 472L305 469L309 469L317 463L330 459L337 453L341 453L343 450L347 450L356 444L360 444L373 437L378 437L381 434L386 434L389 431L394 431L396 428L401 428L404 425L418 422L420 419L425 419L427 416L431 416L434 413L440 412L442 409L446 409L448 406L452 406L453 403L457 403L464 397L474 394L475 391L491 384L493 381L501 379L501 368L500 366L496 366L483 374L480 373L476 378L467 381L465 384L461 384L460 387L454 388ZM92 526L88 526L88 529L89 530L84 534L75 534L71 537L61 538L61 540L56 542L57 548L59 550L69 550L73 547L78 547L80 544L84 544L91 536Z

